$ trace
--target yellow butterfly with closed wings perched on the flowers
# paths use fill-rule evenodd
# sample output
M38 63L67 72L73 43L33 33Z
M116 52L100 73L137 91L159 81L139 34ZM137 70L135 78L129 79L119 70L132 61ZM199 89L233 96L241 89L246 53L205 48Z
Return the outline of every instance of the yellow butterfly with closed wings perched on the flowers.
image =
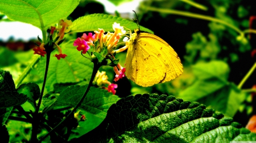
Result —
M183 73L180 58L162 38L139 29L130 35L126 55L126 76L141 86L170 81Z

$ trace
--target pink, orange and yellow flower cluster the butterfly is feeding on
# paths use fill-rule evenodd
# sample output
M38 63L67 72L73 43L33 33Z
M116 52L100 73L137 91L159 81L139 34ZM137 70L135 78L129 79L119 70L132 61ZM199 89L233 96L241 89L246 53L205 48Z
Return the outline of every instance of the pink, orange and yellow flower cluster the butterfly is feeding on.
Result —
M112 63L106 65L113 66L114 72L116 73L114 81L117 82L119 79L125 77L125 68L118 63L119 60L115 59L114 55L127 49L128 45L126 44L121 49L115 50L119 39L126 34L126 31L118 23L113 24L113 30L114 33L107 32L104 34L104 29L99 28L98 31L94 31L94 34L88 33L87 35L84 33L82 37L74 41L73 45L77 46L77 50L81 51L81 54L86 54L86 52L92 48L92 54L89 54L90 60L97 58L98 61L102 62L104 59L110 59ZM101 88L102 86L105 87L105 84L108 84L108 88L105 89L115 94L114 89L117 88L117 84L110 83L108 76L105 74L105 72L98 72L94 79L94 84Z

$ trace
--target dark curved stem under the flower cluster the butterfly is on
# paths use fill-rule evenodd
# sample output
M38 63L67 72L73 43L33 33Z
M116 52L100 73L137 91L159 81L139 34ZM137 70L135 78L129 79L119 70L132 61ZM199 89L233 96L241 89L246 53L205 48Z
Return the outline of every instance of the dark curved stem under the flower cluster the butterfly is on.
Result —
M47 133L46 136L42 137L39 142L42 142L44 139L46 139L46 137L48 137L52 132L54 132L57 127L59 127L61 124L63 124L65 122L65 120L70 119L72 116L74 116L74 112L79 108L79 106L82 104L82 101L84 101L85 96L87 95L87 93L89 92L90 86L92 86L92 82L94 80L94 77L98 71L98 69L100 68L100 64L98 64L97 62L94 62L94 67L93 67L93 72L92 72L92 76L90 77L90 81L88 86L85 89L85 93L82 96L82 98L80 99L79 103L77 103L76 107L68 114L67 118L65 118L64 120L62 120L59 124L56 125L56 127L54 127L50 132Z

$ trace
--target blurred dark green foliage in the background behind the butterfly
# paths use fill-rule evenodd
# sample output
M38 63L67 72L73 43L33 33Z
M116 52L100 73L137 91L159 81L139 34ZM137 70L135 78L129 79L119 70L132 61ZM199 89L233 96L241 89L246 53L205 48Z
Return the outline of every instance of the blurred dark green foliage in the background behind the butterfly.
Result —
M115 5L120 4L116 1L112 2ZM253 114L251 97L249 93L241 92L237 85L255 62L255 58L251 57L251 51L255 49L255 43L253 42L255 36L251 35L249 37L249 34L245 34L245 38L238 38L239 33L220 23L165 12L155 12L146 10L144 7L154 6L162 10L172 9L212 16L241 30L249 28L249 18L255 15L256 7L253 5L253 1L249 0L194 2L207 7L207 10L197 8L184 1L142 1L140 3L139 9L136 11L140 24L154 31L154 34L163 38L175 49L183 63L184 73L173 81L148 88L135 85L125 78L117 82L116 94L122 98L138 93L158 93L174 95L176 98L182 97L188 101L198 101L223 112L226 116L233 117L236 122L245 127ZM80 16L94 13L106 14L104 5L96 1L81 1L79 7L72 12L68 19L75 20ZM113 15L122 16L123 18L125 14L119 14L117 11ZM134 15L133 18L135 19ZM129 19L129 16L127 16L127 19ZM5 20L2 19L2 21ZM133 29L131 30L133 31ZM81 34L70 34L66 38L71 40L81 36ZM0 67L10 71L14 80L27 66L27 61L32 58L33 51L31 49L34 46L34 41L36 42L36 40L29 42L13 41L10 38L8 42L0 43ZM124 65L126 53L120 53L117 56L121 64ZM101 70L107 71L110 81L113 80L114 72L112 68L102 67ZM43 70L40 70L40 64L38 64L23 83L34 82L40 86L42 84L42 77L39 76L40 71ZM242 89L250 89L255 84L255 76L254 72L242 86ZM57 81L57 83L61 83L61 81ZM48 88L47 92L50 90ZM22 106L26 108L30 105L24 104ZM102 121L102 119L94 119L93 115L87 112L86 118L96 121L92 125L88 121L82 123L92 128ZM16 129L9 132L10 136L13 136L13 142L20 140L19 137L23 140L29 138L27 136L31 132L29 124L16 125L10 123L9 128ZM17 131L21 133L17 134ZM17 135L18 137L14 139Z

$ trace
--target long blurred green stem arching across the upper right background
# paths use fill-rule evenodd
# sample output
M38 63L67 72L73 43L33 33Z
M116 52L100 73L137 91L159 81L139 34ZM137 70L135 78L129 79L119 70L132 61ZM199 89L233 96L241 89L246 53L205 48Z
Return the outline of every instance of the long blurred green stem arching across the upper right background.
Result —
M156 11L156 12L162 12L162 13L167 13L167 14L187 16L189 18L197 18L197 19L203 19L203 20L208 20L208 21L214 21L214 22L224 24L224 25L234 29L234 31L237 31L239 34L243 34L243 32L239 28L235 27L234 25L231 25L231 24L227 23L226 21L213 18L211 16L194 14L192 12L184 12L184 11L179 11L179 10L169 10L169 9L163 9L163 8L155 8L155 7L145 7L145 8L146 8L146 10L150 10L150 11Z

